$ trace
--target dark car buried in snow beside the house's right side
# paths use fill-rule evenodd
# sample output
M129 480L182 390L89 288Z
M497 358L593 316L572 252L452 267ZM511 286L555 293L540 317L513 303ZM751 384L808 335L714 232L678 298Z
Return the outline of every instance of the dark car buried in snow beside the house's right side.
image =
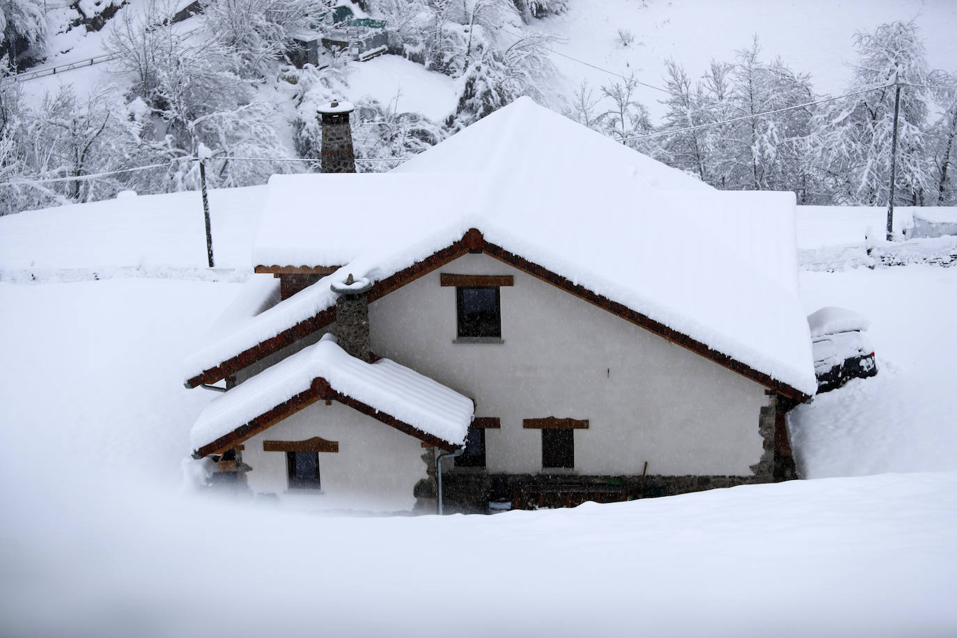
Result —
M818 394L878 373L874 348L863 335L869 324L865 317L837 306L808 315Z

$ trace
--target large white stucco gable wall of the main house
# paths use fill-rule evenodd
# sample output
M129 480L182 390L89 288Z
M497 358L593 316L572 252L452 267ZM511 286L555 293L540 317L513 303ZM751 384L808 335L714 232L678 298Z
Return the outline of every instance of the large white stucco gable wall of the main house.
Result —
M502 343L455 343L456 289L440 273L513 275ZM655 276L654 273L645 276ZM467 254L373 302L372 350L472 397L489 472L542 469L526 418L589 419L578 473L738 474L762 453L764 387L485 254ZM452 465L451 463L449 464Z

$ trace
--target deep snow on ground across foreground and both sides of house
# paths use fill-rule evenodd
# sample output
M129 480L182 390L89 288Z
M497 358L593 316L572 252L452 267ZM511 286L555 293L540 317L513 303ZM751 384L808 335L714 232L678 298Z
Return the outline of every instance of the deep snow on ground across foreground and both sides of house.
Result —
M955 429L954 399L931 391L953 376L955 284L957 269L913 266L802 275L809 306L872 319L883 364L815 400L795 437L805 465L879 473L957 457L940 434ZM953 472L495 517L330 518L181 493L189 426L215 395L182 388L180 362L236 289L0 284L0 634L957 629ZM893 411L866 406L878 389ZM849 392L866 409L827 409Z

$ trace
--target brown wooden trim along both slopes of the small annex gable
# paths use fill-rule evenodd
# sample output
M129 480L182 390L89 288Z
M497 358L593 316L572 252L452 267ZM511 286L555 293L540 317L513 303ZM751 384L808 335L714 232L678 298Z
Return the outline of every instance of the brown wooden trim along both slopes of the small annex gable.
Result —
M444 451L454 451L459 446L455 446L444 439L440 439L434 434L429 434L424 432L421 429L418 429L414 426L409 425L405 421L400 421L390 414L379 411L374 407L368 406L367 404L357 401L352 397L345 396L336 390L332 389L329 386L328 382L322 377L316 377L313 379L312 384L309 385L309 389L304 392L300 392L293 398L279 404L276 407L260 414L252 421L245 423L228 434L220 436L215 441L208 443L197 451L193 452L193 455L197 458L202 458L204 456L209 456L210 454L221 454L224 451L235 448L237 444L243 443L246 440L256 436L259 432L275 426L279 421L282 421L285 418L288 418L300 411L305 407L309 407L317 401L325 399L331 401L338 401L344 406L351 407L363 414L372 417L376 421L386 424L391 428L398 429L400 432L405 432L410 436L414 436L423 443L428 443L430 447L441 448ZM338 449L337 449L338 451Z

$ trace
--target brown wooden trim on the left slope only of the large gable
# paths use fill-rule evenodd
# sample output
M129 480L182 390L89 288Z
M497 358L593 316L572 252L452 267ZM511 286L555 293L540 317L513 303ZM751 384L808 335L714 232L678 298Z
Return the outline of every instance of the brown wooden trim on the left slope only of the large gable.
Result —
M478 239L476 238L477 234ZM369 302L375 301L380 297L385 297L393 290L401 288L420 276L428 275L436 268L441 268L450 261L457 259L465 253L468 253L469 250L471 250L469 248L470 243L474 245L477 243L477 241L480 241L480 239L481 234L479 231L472 229L471 231L466 232L461 239L453 243L451 246L426 257L422 261L415 262L409 268L399 271L395 275L391 275L385 279L382 279L381 281L377 281L375 285L372 286L372 289L368 292ZM214 384L220 379L223 379L231 374L235 374L244 367L252 365L260 359L278 352L287 345L290 345L295 341L299 341L303 337L307 337L318 330L322 330L325 326L329 325L335 320L336 307L331 306L326 308L317 315L309 319L303 319L291 328L283 330L275 337L267 339L266 341L260 341L259 343L256 343L256 345L243 350L239 354L227 359L223 363L204 370L195 377L190 378L186 382L186 385L188 387L197 387L203 384Z

